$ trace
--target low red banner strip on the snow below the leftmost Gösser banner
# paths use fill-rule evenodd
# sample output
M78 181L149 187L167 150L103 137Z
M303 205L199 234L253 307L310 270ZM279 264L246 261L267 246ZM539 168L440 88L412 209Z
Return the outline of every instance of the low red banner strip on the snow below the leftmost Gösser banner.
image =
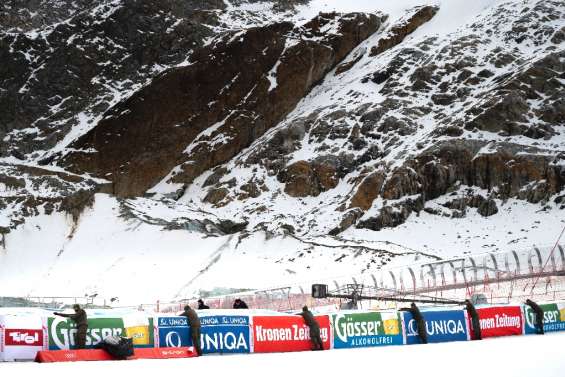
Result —
M179 359L195 357L196 352L192 347L169 347L169 348L136 348L134 359ZM104 350L61 350L61 351L39 351L35 356L38 363L55 363L65 361L105 361L114 358Z

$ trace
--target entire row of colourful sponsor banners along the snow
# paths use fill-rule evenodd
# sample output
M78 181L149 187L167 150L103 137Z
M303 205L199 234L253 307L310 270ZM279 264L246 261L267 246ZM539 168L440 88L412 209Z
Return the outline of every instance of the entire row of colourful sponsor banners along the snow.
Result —
M541 304L546 332L565 331L565 302ZM200 311L204 354L295 352L311 349L302 317L276 312ZM478 306L483 338L535 334L535 314L527 305ZM112 313L118 313L117 315ZM192 347L185 317L144 312L88 310L87 348L109 335L133 338L136 348ZM464 309L423 308L429 343L468 341L472 325ZM416 321L403 311L339 311L318 315L324 349L420 343ZM37 352L75 348L71 320L38 309L0 312L0 360L34 360Z

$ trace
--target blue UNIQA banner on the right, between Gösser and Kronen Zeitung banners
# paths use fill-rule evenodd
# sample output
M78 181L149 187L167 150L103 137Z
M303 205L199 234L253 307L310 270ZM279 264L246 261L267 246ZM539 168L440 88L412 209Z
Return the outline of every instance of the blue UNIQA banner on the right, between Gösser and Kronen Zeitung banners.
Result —
M467 313L463 310L423 311L426 322L428 343L455 342L469 340ZM402 318L406 331L406 344L421 343L416 320L409 312L403 312Z

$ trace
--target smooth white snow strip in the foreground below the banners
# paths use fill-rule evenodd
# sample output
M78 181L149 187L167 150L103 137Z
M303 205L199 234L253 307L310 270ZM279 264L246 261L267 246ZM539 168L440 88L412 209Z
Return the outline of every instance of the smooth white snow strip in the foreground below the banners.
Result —
M231 356L184 360L5 363L4 375L231 375L231 376L434 376L562 377L565 333L514 336L475 342L390 346Z

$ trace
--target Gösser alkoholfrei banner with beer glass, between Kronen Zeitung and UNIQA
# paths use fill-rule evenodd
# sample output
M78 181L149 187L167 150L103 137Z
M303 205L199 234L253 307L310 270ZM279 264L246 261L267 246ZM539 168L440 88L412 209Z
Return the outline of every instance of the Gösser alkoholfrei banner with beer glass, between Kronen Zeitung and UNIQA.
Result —
M397 312L334 314L334 348L403 344L400 321Z

